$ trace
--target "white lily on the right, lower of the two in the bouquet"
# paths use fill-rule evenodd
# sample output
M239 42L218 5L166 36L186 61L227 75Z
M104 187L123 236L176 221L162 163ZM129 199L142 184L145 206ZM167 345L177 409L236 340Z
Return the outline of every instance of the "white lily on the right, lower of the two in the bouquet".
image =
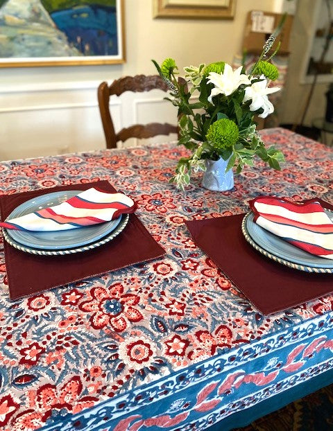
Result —
M252 100L250 104L250 111L257 111L257 109L264 109L262 114L258 116L260 118L266 118L269 114L274 111L273 104L268 100L267 94L275 93L279 91L279 87L267 87L267 80L264 75L260 76L261 79L258 82L254 82L250 87L246 87L245 96L243 99L243 103L248 102L248 100Z

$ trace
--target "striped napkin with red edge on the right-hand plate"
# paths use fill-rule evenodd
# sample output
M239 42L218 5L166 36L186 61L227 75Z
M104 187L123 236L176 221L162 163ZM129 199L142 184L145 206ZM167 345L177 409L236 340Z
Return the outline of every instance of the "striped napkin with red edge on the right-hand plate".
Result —
M257 225L305 252L333 259L333 222L315 199L294 204L261 196L250 201L250 208Z

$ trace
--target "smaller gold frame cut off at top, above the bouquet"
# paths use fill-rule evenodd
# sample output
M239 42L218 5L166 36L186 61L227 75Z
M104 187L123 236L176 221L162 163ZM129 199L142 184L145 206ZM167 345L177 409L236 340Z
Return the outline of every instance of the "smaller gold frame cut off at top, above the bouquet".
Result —
M154 18L232 19L236 0L153 0Z

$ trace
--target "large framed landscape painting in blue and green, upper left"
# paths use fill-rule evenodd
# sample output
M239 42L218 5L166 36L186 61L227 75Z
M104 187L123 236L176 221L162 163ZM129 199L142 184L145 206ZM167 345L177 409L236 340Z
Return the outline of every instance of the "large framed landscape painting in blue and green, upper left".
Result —
M0 0L0 67L124 61L123 0Z

